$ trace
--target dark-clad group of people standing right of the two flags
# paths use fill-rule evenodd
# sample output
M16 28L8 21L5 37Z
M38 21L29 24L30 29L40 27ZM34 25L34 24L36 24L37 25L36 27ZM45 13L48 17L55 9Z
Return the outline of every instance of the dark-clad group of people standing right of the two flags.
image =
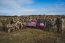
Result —
M62 32L62 18L60 16L56 17L56 19L51 19L47 17L44 21L48 31L50 31L52 28L55 29L56 26L57 32Z

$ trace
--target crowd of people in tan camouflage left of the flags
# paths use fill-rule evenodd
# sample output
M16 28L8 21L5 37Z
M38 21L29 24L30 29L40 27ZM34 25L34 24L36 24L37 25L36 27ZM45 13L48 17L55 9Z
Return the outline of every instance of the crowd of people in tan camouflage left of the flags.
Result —
M12 31L22 29L23 28L22 22L20 22L19 19L17 21L15 21L15 20L17 20L17 19L7 18L7 20L2 20L3 30L5 32L10 33Z

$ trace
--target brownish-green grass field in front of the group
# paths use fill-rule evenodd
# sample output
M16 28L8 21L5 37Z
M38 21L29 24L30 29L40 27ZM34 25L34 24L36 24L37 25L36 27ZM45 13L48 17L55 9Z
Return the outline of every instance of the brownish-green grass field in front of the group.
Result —
M12 33L0 32L0 43L65 43L65 39L61 33L28 28Z

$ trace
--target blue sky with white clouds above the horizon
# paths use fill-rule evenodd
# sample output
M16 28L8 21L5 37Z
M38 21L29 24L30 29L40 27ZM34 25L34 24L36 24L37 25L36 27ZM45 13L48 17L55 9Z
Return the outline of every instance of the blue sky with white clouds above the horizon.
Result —
M65 15L65 0L0 0L0 15Z

